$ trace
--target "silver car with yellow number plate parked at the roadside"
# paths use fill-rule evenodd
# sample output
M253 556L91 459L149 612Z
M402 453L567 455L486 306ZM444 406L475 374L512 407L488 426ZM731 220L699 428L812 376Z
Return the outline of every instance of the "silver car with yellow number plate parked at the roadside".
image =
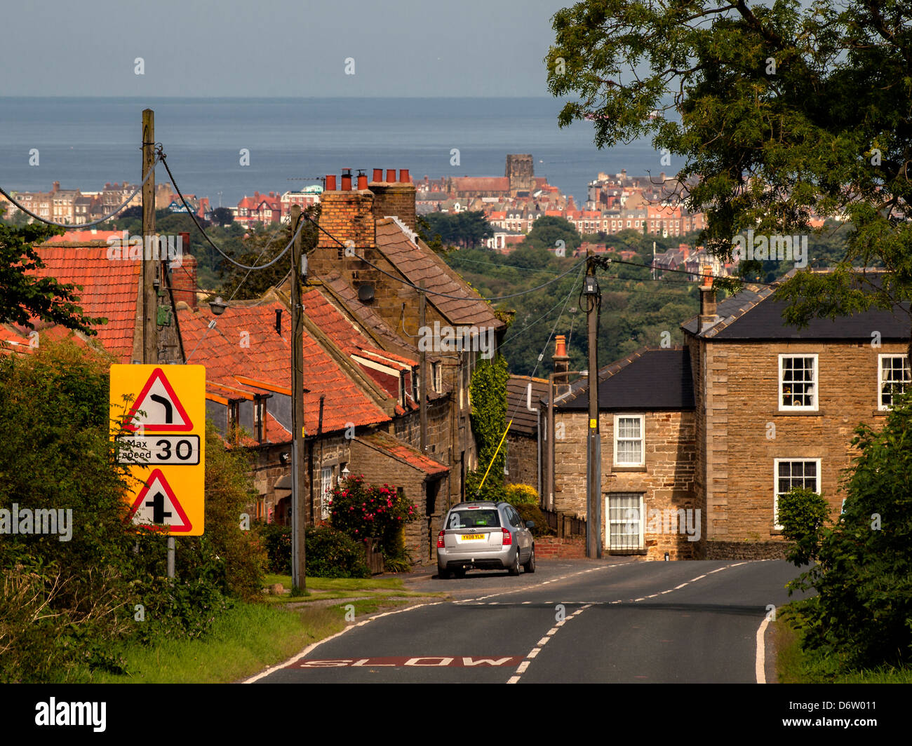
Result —
M532 521L523 519L510 503L453 505L437 534L437 570L441 578L463 577L466 570L508 570L519 575L520 565L535 572Z

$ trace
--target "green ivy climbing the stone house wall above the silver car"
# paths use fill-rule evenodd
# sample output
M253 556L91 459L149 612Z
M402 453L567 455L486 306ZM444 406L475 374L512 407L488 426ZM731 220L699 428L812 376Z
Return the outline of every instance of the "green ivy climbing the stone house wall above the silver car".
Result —
M507 428L507 381L510 373L507 371L506 359L497 355L491 360L479 359L472 371L472 433L478 447L478 476L479 483L488 472L484 487L492 482L490 490L498 490L505 495L503 490L503 466L506 462L506 451L501 444L503 433ZM498 446L500 445L500 450ZM496 454L496 455L495 455ZM489 470L490 465L490 470ZM466 495L477 492L477 485L467 475ZM473 478L472 478L473 479ZM474 499L474 498L472 498ZM483 497L483 500L492 499ZM503 500L503 496L500 498Z

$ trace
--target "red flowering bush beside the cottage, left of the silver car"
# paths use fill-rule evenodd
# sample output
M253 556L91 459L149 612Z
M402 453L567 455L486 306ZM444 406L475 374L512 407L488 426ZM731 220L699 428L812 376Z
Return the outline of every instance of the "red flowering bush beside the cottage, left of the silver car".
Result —
M395 487L368 484L363 476L349 477L332 491L329 523L355 539L379 539L384 556L401 554L399 533L414 521L415 503Z

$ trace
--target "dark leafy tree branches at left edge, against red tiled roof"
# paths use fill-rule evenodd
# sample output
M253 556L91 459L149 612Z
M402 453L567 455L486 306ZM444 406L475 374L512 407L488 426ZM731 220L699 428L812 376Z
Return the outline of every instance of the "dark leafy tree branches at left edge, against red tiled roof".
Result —
M21 228L0 223L0 321L34 328L29 319L35 317L94 335L92 326L107 320L82 313L78 285L33 274L45 265L33 244L61 233L38 223Z

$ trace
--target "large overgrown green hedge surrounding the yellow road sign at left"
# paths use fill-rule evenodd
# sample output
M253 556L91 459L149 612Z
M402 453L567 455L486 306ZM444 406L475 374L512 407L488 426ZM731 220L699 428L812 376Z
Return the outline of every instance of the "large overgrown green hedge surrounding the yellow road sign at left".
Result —
M71 515L58 534L0 541L0 680L62 681L79 667L117 670L127 638L199 637L229 595L259 594L265 554L242 532L250 498L243 451L206 442L206 534L166 542L125 526L130 479L109 441L109 360L70 342L0 358L0 509ZM68 513L67 513L68 512ZM68 540L60 541L67 537ZM144 607L143 619L136 605Z

